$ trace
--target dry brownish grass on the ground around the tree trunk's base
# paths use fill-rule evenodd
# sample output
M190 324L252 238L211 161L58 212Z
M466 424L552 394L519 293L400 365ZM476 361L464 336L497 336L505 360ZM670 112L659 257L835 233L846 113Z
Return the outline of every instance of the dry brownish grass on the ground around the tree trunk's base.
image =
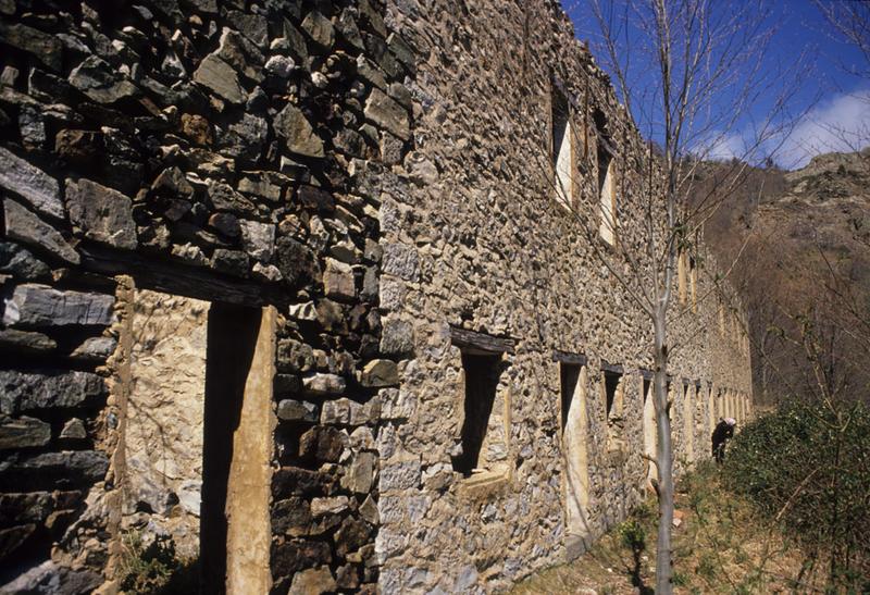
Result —
M797 546L725 489L712 464L680 482L676 509L682 521L673 531L676 593L817 591L795 582L804 560ZM651 505L642 507L576 561L537 573L512 593L652 593L655 535Z

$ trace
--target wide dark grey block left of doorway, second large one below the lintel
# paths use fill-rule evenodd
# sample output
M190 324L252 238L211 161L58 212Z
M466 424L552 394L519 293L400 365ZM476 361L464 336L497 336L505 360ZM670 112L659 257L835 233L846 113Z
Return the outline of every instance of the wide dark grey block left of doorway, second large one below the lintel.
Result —
M104 395L103 380L89 372L0 371L0 412L18 412L90 407Z

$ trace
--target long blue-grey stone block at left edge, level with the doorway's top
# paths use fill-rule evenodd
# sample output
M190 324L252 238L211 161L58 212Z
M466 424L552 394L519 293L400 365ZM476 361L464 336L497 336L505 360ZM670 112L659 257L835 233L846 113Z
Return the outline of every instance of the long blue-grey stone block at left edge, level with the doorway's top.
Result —
M105 294L61 292L26 283L15 287L4 301L3 324L8 326L108 326L114 321L115 298Z

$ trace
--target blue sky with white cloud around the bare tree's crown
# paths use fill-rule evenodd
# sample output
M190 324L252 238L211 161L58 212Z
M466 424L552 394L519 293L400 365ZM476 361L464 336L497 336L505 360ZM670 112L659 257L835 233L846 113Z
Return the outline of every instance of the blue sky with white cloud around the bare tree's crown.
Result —
M591 40L595 50L595 41L599 36L587 5L591 1L594 0L562 0L562 4L574 22L576 36L582 40ZM729 0L718 1L722 2L719 5L724 5ZM806 164L812 154L867 146L867 140L870 140L870 80L867 79L870 64L866 58L831 30L810 0L769 1L767 7L771 14L762 26L774 33L762 57L761 67L767 72L791 69L795 57L804 52L808 60L800 69L805 76L796 92L790 97L787 106L792 114L803 114L803 117L796 121L786 139L779 139L775 144L771 141L766 150L773 153L780 165L794 169ZM599 64L605 65L600 59ZM747 64L745 67L751 66ZM847 72L849 69L863 71L865 74L852 74ZM765 120L776 90L778 87L771 88L733 126L717 136L711 157L728 159L744 154L744 139L751 136L758 122ZM726 104L730 99L725 91L723 103ZM637 113L639 108L633 108L635 120L639 123L643 120ZM642 132L647 134L649 131L642 128ZM655 133L650 134L655 136Z

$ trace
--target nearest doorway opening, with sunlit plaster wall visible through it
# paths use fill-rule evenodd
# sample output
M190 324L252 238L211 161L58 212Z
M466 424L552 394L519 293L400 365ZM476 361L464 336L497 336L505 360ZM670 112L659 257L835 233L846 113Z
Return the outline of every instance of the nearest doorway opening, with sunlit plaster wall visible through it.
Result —
M122 540L161 535L167 586L271 586L274 324L273 308L135 292Z

